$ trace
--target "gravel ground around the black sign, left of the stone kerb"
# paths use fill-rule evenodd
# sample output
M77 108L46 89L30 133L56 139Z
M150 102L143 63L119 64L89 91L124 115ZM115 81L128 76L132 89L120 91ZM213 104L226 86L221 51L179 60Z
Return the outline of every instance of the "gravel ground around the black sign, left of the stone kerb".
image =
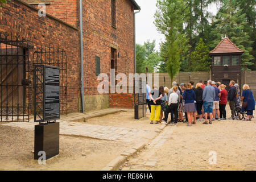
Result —
M128 143L60 135L60 155L33 160L34 131L0 125L0 170L100 170ZM132 143L129 143L132 144Z

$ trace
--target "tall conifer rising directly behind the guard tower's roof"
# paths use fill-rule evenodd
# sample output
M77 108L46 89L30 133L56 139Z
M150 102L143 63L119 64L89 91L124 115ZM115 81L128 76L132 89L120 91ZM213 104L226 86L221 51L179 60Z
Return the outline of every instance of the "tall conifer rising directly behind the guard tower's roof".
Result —
M250 52L253 42L250 41L249 32L246 32L247 26L246 14L242 14L240 2L237 0L224 0L220 11L216 15L216 24L213 34L216 38L213 44L216 46L225 35L230 38L238 48L245 51L242 54L242 64L253 65L253 55Z

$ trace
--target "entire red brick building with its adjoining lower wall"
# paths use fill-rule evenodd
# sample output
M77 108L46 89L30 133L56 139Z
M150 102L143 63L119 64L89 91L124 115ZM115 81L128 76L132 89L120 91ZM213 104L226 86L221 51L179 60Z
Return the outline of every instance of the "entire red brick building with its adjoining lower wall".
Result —
M45 3L46 16L38 15L38 3ZM23 38L27 43L24 52L28 61L35 60L36 49L40 46L65 51L68 113L81 111L79 9L79 0L13 0L0 7L2 44L8 44L4 42L5 32L8 40L16 35ZM96 70L108 75L110 68L115 68L116 73L134 73L134 11L139 9L134 0L82 1L85 112L106 107L133 107L133 94L98 94L100 81ZM29 74L28 71L25 75Z

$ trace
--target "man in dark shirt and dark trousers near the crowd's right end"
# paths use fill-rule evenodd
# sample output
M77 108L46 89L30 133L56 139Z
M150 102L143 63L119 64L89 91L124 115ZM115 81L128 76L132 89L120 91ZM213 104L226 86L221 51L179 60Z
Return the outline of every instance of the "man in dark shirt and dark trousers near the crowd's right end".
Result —
M235 119L234 117L234 111L236 109L236 101L237 101L237 97L236 97L236 93L237 93L237 89L234 86L236 82L235 81L230 81L229 86L230 86L230 90L228 93L228 101L229 101L229 107L232 113L232 116L229 119Z

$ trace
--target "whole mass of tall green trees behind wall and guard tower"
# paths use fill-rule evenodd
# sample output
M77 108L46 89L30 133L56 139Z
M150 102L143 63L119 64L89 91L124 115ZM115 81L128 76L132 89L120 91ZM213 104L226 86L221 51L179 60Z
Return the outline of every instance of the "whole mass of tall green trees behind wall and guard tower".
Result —
M242 64L256 70L255 0L158 0L155 26L166 36L159 72L208 71L209 54L226 36L244 50ZM218 5L217 15L209 5ZM202 39L202 40L201 40ZM175 63L175 67L174 64ZM176 65L179 68L176 68ZM172 73L171 73L172 72ZM170 76L171 76L170 75Z

